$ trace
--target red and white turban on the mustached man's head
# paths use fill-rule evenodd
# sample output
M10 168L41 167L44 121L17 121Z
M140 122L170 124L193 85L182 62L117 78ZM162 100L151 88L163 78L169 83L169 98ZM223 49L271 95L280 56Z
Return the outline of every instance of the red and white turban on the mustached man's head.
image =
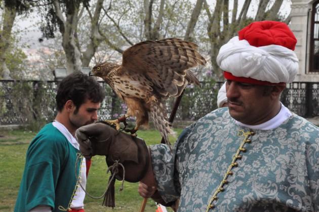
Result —
M297 39L287 24L253 22L223 45L217 64L228 80L257 85L293 82L299 68Z

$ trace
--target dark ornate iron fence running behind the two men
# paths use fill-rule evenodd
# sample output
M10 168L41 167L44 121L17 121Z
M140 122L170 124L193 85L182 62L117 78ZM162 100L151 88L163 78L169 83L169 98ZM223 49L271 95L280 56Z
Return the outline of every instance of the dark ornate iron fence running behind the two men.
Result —
M106 89L106 97L99 110L100 119L113 119L126 113L126 105L116 94ZM201 87L188 86L179 105L175 120L197 120L217 108L217 92L223 82L202 82ZM49 122L54 119L55 81L0 81L0 125L25 124L30 121ZM171 111L175 98L167 100ZM319 115L319 82L294 82L287 85L281 101L302 117Z

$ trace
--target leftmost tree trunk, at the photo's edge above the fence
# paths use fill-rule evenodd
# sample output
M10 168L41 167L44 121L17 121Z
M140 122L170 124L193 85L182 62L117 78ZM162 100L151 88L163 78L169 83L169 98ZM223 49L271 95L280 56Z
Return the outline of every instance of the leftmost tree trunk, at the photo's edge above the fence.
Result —
M15 8L4 7L3 25L0 31L0 79L11 79L10 70L6 64L6 54L10 47L11 30L16 14Z

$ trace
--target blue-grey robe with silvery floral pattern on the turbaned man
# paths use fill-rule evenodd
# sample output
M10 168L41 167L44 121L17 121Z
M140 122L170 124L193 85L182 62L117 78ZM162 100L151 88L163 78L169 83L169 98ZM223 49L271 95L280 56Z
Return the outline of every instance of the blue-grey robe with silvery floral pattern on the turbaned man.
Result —
M178 211L319 211L319 128L295 114L251 130L218 109L186 128L172 154L155 145L151 155L158 191L166 202L180 198Z

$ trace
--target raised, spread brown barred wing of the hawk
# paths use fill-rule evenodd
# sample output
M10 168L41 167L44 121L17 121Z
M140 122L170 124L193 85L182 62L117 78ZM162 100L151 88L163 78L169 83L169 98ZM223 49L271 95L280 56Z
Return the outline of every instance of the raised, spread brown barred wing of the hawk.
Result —
M187 84L185 78L196 79L186 70L206 63L197 47L175 38L138 43L124 51L122 73L143 74L158 93L178 96Z

